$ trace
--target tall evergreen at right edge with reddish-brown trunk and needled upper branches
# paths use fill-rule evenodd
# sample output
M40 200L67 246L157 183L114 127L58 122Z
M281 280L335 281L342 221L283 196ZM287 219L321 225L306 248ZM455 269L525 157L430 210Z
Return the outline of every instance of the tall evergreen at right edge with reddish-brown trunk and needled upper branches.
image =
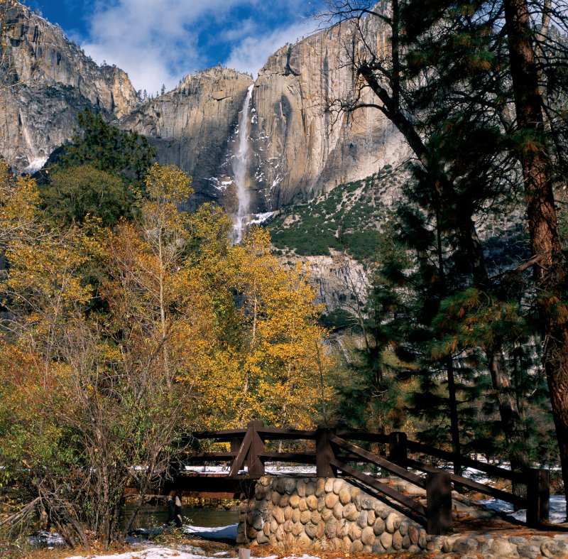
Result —
M403 12L405 40L415 45L409 56L415 75L428 75L437 93L450 92L454 113L461 116L472 105L479 107L478 113L483 112L498 130L496 153L518 173L512 170L507 178L513 179L517 192L523 192L526 203L532 257L523 267L533 271L542 364L568 495L568 286L554 195L555 175L561 176L565 169L568 123L562 99L567 94L568 51L565 40L552 36L547 28L552 18L565 30L568 20L555 2L532 6L537 25L530 22L525 0L434 2L427 13L423 8L409 1ZM424 45L429 45L426 52ZM547 92L550 85L560 102ZM424 99L422 109L432 107ZM443 118L444 124L448 121ZM461 136L459 149L467 143L471 144L468 136ZM452 161L462 158L459 149ZM473 153L472 161L483 158Z

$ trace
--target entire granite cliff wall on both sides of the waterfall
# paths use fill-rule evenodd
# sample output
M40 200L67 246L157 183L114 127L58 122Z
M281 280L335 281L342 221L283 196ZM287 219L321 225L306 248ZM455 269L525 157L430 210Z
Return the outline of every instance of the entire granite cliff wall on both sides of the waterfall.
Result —
M356 89L349 59L361 45L348 25L280 48L254 83L249 75L216 67L188 75L173 91L146 102L122 70L97 66L60 28L15 1L9 28L0 153L20 170L38 168L70 139L77 112L90 107L121 129L145 134L160 163L192 175L192 207L214 201L238 215L233 163L243 147L239 124L251 85L241 180L253 221L406 156L400 136L378 110L361 109L348 119L327 109ZM384 48L386 32L378 20L367 23L366 33L373 48Z

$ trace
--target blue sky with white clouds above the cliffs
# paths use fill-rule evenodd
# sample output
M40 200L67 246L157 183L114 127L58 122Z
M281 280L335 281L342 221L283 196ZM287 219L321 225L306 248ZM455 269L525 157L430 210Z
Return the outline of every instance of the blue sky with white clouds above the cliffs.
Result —
M308 35L322 0L27 0L93 60L128 72L135 89L173 89L222 63L256 75L268 55Z

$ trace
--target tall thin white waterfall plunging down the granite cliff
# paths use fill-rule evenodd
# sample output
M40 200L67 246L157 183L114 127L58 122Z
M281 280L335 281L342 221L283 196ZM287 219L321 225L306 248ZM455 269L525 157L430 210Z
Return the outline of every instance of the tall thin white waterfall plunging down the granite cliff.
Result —
M251 195L246 188L246 163L249 160L249 109L251 107L251 97L254 84L251 84L249 91L246 92L241 118L239 119L238 148L232 159L233 175L236 188L236 199L239 201L239 209L235 217L235 224L231 232L231 241L234 244L243 240L246 220L249 217L249 205Z

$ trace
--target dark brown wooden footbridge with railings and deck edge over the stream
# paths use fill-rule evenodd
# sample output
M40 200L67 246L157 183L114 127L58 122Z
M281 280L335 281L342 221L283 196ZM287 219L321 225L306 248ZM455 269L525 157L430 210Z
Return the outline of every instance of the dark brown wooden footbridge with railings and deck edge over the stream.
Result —
M501 499L519 509L527 509L527 524L542 526L548 520L549 475L547 470L511 472L495 465L471 460L469 457L422 445L408 440L405 433L380 435L356 430L320 427L315 430L297 430L265 427L261 421L249 422L246 429L205 431L192 435L194 439L209 439L229 442L228 452L199 452L185 456L178 465L173 479L165 483L160 494L167 496L202 496L242 498L252 494L256 480L265 474L264 464L270 462L293 462L315 465L316 477L351 477L366 491L384 500L385 496L395 501L407 514L419 519L427 533L443 534L452 531L452 484L481 494ZM186 440L186 442L189 439ZM315 441L315 452L272 452L266 450L270 440ZM376 455L359 447L352 441L379 443L388 450L386 455ZM420 458L420 460L418 460ZM527 496L517 496L495 489L457 473L427 465L423 460L452 464L454 472L471 467L485 472L492 478L506 479L513 484L524 484ZM228 462L228 474L188 474L187 464ZM375 465L390 474L420 487L426 492L426 504L416 501L408 494L399 492L375 477L357 470L349 463ZM246 466L246 472L243 471ZM422 472L422 475L409 471ZM307 477L307 476L306 476ZM128 493L135 493L131 489Z

